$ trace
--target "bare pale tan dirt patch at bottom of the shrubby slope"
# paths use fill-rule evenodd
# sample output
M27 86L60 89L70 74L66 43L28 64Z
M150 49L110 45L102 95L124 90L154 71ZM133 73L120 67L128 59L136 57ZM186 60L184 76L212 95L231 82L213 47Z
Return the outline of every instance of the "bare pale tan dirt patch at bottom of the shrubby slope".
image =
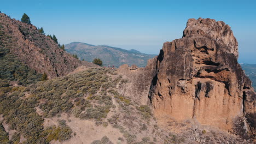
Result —
M58 125L58 119L64 119L67 125L72 129L73 136L71 139L63 142L52 141L51 143L91 143L94 140L100 140L103 136L107 136L110 141L118 143L118 137L123 137L118 129L108 125L103 127L102 125L96 126L94 121L82 120L74 116L68 116L62 114L61 117L45 118L44 126L49 127ZM74 135L75 133L75 135Z

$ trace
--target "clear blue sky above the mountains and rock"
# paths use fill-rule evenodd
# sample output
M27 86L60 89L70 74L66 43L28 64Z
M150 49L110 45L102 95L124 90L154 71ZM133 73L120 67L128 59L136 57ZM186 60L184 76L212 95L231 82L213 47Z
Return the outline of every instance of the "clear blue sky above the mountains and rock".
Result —
M12 18L55 34L61 44L80 41L158 54L165 41L182 37L189 18L211 18L231 26L240 63L256 63L256 1L55 1L1 0Z

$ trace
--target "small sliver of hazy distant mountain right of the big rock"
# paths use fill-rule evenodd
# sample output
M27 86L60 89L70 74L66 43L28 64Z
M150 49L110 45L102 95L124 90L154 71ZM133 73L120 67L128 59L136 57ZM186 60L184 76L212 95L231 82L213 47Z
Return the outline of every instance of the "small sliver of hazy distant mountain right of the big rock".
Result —
M245 70L246 75L251 79L254 91L256 91L256 64L241 64L241 66Z

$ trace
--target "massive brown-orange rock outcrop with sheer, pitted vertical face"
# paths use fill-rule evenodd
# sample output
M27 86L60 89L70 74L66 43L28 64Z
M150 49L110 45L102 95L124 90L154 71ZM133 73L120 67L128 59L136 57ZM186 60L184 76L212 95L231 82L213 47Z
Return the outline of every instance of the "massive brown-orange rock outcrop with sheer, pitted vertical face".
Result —
M237 47L224 22L189 19L183 38L164 43L155 61L149 99L156 117L195 119L232 133L255 135L256 95L237 63Z

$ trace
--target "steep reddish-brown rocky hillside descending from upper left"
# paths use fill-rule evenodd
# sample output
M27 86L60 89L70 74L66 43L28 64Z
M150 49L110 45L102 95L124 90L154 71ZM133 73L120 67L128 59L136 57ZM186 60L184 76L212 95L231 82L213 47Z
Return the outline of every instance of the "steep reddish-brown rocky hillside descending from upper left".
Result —
M52 39L39 33L35 26L10 19L5 14L0 14L0 33L2 55L11 53L37 73L48 74L49 78L66 75L82 65Z

